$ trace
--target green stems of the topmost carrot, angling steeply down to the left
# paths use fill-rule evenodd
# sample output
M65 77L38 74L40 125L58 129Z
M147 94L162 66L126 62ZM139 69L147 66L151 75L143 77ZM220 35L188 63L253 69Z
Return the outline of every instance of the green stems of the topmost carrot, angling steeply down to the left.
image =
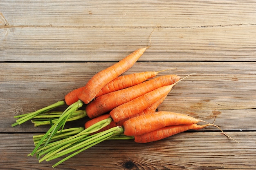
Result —
M76 111L79 107L81 107L83 105L82 101L77 101L76 103L73 103L72 105L70 105L69 107L67 107L67 109L61 114L60 118L54 123L54 125L52 125L52 127L45 133L45 135L42 137L42 139L38 142L38 144L36 145L36 147L34 148L34 150L29 154L31 156L33 156L36 152L36 150L39 148L39 146L41 145L41 143L43 143L44 139L47 138L47 136L49 135L47 141L45 142L44 146L46 146L49 141L51 140L52 136L54 136L54 134L59 130L59 128L61 128L61 126L65 125L65 119L70 116L70 114L72 114L72 112ZM61 129L63 130L63 128Z

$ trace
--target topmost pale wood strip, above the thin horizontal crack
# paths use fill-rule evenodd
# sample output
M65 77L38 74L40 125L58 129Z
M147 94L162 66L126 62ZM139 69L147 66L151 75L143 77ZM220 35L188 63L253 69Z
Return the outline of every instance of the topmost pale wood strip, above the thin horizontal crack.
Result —
M255 24L254 0L76 2L1 0L5 24L20 27L212 27Z

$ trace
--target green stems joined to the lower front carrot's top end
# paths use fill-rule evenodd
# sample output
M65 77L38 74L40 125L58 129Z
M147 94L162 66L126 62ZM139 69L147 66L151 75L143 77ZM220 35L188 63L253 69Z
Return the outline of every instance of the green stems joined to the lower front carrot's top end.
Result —
M99 132L99 133L97 133L96 136L91 137L88 140L85 140L81 143L78 143L78 144L72 146L71 148L68 148L68 149L63 150L61 152L58 152L57 154L53 155L52 157L49 157L48 159L46 159L46 161L51 161L53 159L56 159L58 157L61 157L61 156L65 155L65 154L69 154L70 152L74 152L75 150L78 150L80 148L88 146L92 143L97 144L101 141L105 141L106 139L109 139L111 136L115 136L115 135L121 134L123 132L124 132L124 128L121 128L119 126L111 128L111 129L103 131L103 132Z

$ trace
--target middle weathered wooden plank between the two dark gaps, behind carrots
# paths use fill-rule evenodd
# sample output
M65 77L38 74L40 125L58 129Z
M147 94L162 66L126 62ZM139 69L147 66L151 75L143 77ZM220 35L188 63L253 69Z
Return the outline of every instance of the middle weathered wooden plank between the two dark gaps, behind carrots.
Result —
M70 90L85 85L92 75L112 64L0 63L0 132L45 132L48 127L35 129L29 122L11 128L13 116L62 100ZM175 69L159 75L198 74L177 84L159 110L181 112L210 122L216 115L216 123L225 130L255 130L255 62L138 62L125 74L168 68ZM83 121L77 125L83 125Z

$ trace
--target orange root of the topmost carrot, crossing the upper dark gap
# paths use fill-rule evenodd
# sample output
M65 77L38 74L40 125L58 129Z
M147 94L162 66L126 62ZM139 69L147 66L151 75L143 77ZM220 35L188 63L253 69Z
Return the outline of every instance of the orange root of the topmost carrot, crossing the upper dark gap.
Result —
M90 103L102 87L132 67L147 48L137 49L118 63L95 74L85 85L83 91L78 94L78 98L85 104Z

